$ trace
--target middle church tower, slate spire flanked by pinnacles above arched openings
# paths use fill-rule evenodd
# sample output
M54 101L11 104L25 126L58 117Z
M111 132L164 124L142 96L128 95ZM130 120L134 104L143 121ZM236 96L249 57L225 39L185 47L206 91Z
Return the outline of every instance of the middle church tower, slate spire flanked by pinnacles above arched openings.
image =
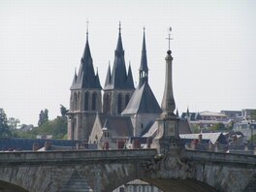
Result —
M133 92L134 81L131 65L129 65L127 73L121 39L121 24L119 23L119 34L114 51L112 73L109 66L104 87L103 112L112 115L120 114L127 106Z

